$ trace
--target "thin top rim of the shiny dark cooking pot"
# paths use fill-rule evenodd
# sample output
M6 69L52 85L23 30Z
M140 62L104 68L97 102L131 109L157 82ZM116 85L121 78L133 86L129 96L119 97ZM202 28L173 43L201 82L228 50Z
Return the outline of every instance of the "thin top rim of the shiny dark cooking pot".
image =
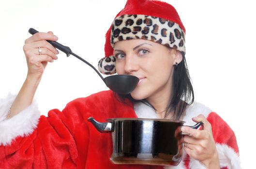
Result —
M156 118L108 118L106 119L109 122L113 121L159 121L159 122L173 122L173 123L186 123L185 121L181 120L170 120L170 119L156 119Z

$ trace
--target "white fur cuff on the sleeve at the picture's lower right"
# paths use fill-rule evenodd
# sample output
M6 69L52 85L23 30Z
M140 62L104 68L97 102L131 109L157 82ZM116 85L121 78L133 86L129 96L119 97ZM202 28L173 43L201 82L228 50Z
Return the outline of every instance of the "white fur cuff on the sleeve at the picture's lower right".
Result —
M239 155L226 144L216 144L221 167L241 169Z

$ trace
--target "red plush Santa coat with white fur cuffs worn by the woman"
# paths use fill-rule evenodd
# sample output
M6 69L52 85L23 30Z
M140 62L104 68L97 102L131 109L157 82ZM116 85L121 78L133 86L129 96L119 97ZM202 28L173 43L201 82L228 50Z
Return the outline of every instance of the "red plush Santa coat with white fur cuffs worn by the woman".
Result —
M5 110L2 114L7 114L12 100L0 100L0 113ZM113 149L111 133L98 132L88 117L102 122L107 118L137 117L133 103L119 102L110 90L75 99L62 111L49 111L48 117L39 118L33 106L8 120L0 116L0 169L163 169L115 165L109 160ZM234 132L216 113L205 115L212 126L221 166L240 169ZM176 169L188 169L189 165L192 169L204 168L197 160L183 155Z

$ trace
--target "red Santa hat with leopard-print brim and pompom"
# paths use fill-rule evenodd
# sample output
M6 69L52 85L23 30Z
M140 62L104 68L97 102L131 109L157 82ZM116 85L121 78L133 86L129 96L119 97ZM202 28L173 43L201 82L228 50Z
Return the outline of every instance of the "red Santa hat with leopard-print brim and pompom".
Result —
M127 0L105 35L105 57L98 63L103 74L116 73L116 42L144 39L179 50L185 55L185 28L175 8L159 0Z

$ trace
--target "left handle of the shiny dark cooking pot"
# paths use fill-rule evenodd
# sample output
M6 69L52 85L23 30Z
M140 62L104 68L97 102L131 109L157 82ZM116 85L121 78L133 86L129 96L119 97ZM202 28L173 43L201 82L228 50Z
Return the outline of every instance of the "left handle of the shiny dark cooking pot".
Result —
M110 122L100 123L93 117L89 117L87 120L101 133L109 133L114 131L114 126Z

